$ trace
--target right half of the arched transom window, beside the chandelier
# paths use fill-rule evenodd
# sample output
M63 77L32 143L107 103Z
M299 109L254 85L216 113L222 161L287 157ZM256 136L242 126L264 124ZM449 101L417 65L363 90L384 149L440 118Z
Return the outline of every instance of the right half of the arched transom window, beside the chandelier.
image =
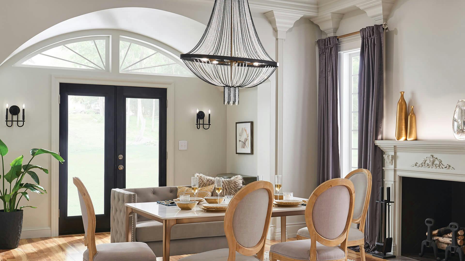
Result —
M167 52L128 38L120 39L120 72L192 75L179 59Z

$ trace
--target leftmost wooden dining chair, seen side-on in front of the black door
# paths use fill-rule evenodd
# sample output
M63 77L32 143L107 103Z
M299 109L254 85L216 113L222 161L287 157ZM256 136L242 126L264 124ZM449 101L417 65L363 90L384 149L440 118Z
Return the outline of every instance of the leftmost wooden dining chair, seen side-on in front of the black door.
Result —
M122 242L95 245L95 212L92 200L86 187L78 177L73 177L73 183L78 188L81 205L82 222L84 223L84 251L83 261L156 261L146 243Z

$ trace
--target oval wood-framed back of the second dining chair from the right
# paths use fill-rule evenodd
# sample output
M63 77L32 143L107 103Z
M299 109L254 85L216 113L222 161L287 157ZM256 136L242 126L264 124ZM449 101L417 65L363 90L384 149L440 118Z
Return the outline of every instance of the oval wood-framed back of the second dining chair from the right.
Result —
M316 261L316 242L328 247L340 245L347 258L347 236L352 222L354 186L345 178L321 183L313 192L305 209L305 221L310 233L311 261Z

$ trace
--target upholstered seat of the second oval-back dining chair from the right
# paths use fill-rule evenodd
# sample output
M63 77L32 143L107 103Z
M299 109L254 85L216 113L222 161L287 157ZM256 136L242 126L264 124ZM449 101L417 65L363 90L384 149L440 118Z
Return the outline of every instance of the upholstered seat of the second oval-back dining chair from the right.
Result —
M311 239L288 241L274 244L270 252L299 260L310 260ZM329 261L345 258L344 251L338 247L326 247L317 242L317 261Z

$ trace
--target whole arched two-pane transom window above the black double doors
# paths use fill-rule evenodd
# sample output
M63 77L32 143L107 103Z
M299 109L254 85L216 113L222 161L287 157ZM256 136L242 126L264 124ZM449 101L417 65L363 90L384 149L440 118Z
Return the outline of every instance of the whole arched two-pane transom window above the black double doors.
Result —
M110 53L109 36L67 39L46 46L15 66L111 72L111 59L119 59L120 73L193 76L173 53L138 39L121 36L120 50Z

